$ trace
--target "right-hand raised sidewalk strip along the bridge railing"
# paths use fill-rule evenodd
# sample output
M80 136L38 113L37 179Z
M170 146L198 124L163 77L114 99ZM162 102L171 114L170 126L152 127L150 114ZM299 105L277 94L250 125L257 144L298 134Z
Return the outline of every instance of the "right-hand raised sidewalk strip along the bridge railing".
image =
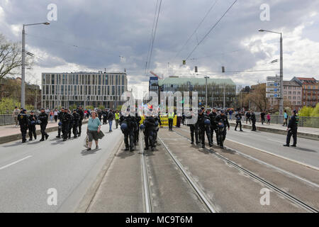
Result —
M235 120L228 120L231 126L236 125ZM252 128L252 124L246 123L246 121L242 121L242 128ZM279 124L270 123L267 125L264 123L256 122L257 131L265 131L269 133L279 133L279 134L286 134L287 126L282 126ZM308 127L298 127L298 136L301 138L307 138L311 140L319 140L319 128L308 128Z

